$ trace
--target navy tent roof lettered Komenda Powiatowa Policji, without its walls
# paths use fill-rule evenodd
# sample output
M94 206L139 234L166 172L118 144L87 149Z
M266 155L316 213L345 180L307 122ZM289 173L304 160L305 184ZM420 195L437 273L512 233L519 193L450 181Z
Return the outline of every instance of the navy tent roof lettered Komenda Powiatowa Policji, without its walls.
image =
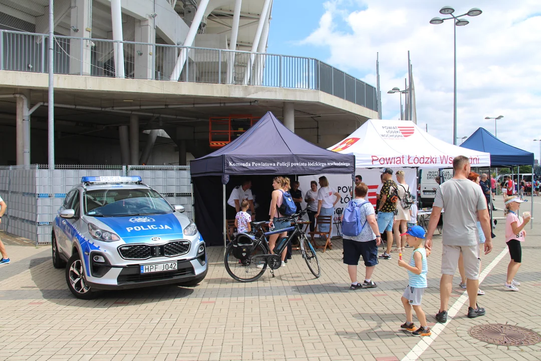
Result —
M268 111L223 148L190 161L192 176L354 173L353 155L337 154L302 139Z

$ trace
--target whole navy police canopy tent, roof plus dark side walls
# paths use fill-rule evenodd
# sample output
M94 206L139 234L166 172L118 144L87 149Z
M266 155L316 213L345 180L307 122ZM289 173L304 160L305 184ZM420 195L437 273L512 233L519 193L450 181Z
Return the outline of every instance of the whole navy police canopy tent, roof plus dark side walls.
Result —
M262 211L257 218L268 220L265 201L270 199L274 176L354 172L353 155L313 145L283 126L269 111L225 147L190 162L197 226L207 244L220 244L222 238L225 243L226 194L251 176L266 175L252 182L252 191L260 195L257 202Z

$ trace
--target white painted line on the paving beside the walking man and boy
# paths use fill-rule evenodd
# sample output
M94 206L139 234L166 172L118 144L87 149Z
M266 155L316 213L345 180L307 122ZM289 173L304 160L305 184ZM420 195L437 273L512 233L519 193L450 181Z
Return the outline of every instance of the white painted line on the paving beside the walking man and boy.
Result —
M479 284L483 282L485 277L490 273L490 271L492 271L494 267L496 267L498 262L501 261L506 254L507 249L504 248L504 250L498 254L497 257L492 260L492 262L490 262L490 265L488 265L479 275ZM417 345L415 345L401 361L416 361L423 354L423 352L430 347L430 344L438 337L441 331L445 329L445 326L451 322L453 317L457 315L458 311L466 303L467 299L467 292L464 292L462 296L460 296L460 298L453 304L453 306L451 306L451 309L447 311L447 322L445 324L438 323L436 326L432 327L431 336L421 338Z

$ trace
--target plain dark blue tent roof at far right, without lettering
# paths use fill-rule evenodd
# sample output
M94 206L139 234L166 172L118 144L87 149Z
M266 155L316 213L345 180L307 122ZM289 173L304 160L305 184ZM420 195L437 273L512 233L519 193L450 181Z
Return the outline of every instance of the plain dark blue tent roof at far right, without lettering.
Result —
M485 128L473 132L460 147L490 153L490 165L493 167L533 165L533 153L502 142Z

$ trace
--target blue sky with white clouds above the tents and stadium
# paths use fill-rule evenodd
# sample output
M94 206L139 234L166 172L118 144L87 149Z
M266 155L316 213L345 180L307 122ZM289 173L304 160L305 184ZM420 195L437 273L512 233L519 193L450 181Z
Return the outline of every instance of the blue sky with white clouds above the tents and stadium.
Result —
M451 2L452 3L452 2ZM541 1L274 0L267 52L315 57L376 85L379 52L383 119L399 119L407 51L413 65L417 124L453 142L453 23L432 25L444 5L457 27L457 137L483 127L539 159L541 139ZM458 139L460 144L462 140Z

